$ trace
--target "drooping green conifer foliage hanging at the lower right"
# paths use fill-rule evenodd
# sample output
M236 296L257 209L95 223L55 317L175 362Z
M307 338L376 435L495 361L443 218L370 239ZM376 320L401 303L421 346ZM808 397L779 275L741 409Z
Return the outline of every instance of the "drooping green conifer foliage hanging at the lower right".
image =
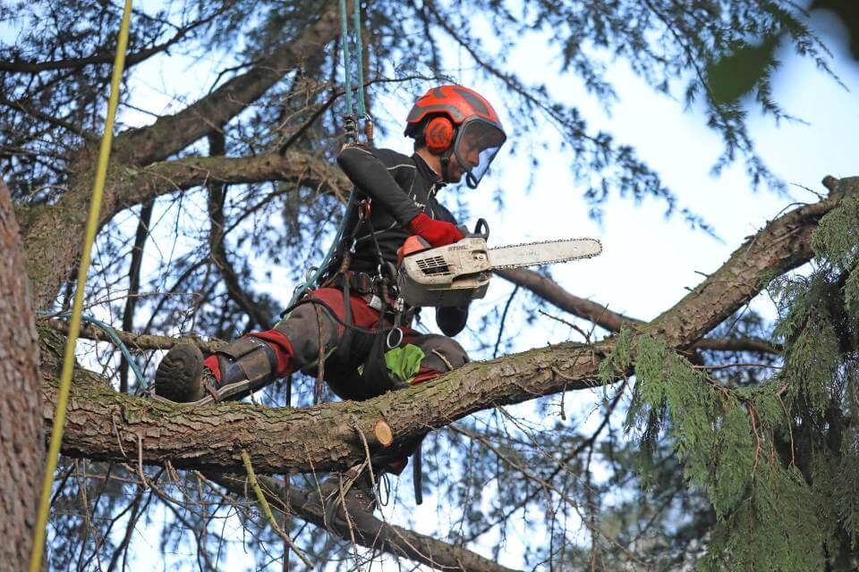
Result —
M859 197L821 220L807 276L781 277L778 374L727 384L646 333L625 329L604 381L633 367L627 431L670 443L716 524L700 570L854 570L859 565Z

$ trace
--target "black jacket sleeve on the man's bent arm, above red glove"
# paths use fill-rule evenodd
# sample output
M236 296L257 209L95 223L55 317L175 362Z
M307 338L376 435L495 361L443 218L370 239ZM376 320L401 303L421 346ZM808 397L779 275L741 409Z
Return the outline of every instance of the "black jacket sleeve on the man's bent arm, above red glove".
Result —
M421 209L414 204L377 156L362 147L346 147L337 156L337 164L359 189L394 216L397 223L408 225Z

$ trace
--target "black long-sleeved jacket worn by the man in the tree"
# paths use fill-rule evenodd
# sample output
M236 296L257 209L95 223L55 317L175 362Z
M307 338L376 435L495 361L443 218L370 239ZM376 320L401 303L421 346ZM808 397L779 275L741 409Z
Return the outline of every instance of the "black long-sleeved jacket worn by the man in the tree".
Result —
M454 215L436 200L436 193L444 183L417 153L409 157L391 149L346 147L337 156L337 164L355 184L358 198L370 199L372 231L365 224L355 234L355 254L350 266L353 270L376 273L376 243L382 259L395 265L396 250L410 234L408 223L421 212L456 224ZM345 236L348 237L353 234L357 216L348 213L347 217ZM438 308L436 321L442 332L455 335L464 328L467 316L468 307Z

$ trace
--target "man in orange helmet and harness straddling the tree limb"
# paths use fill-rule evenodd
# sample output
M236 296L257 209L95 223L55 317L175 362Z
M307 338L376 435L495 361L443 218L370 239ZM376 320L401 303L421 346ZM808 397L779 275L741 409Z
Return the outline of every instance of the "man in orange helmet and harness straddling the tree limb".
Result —
M355 200L318 287L287 308L271 330L251 332L205 359L197 346L174 346L157 368L158 396L235 400L293 372L321 369L339 397L365 400L468 361L448 337L463 330L467 306L437 308L446 335L412 329L413 308L397 303L397 249L411 235L432 247L463 238L438 191L463 179L476 188L506 135L486 98L457 85L420 97L404 135L414 139L412 156L362 145L344 147L337 156Z

